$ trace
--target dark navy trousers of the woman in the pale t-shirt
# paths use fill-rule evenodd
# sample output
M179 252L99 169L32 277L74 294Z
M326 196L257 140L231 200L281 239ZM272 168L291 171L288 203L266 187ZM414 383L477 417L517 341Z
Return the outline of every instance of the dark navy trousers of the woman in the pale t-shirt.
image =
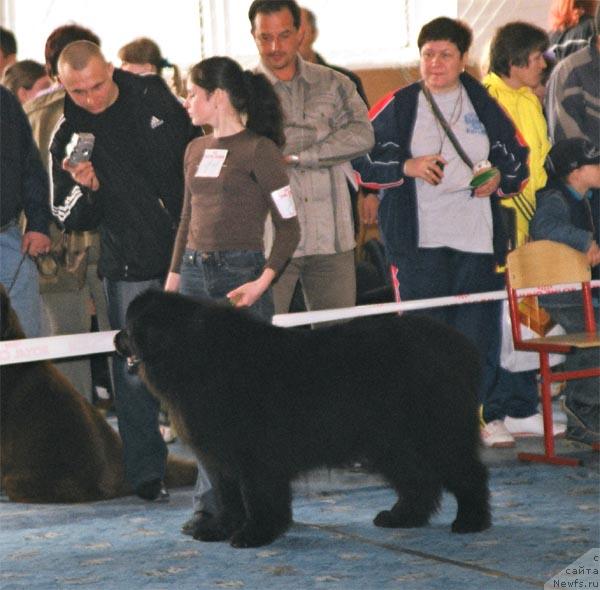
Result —
M495 291L504 284L503 276L495 272L492 254L420 248L414 254L391 262L398 268L402 301ZM500 355L500 310L500 303L491 301L411 312L445 322L475 344L483 369L480 400L485 398L494 378L494 369L487 362L488 355Z

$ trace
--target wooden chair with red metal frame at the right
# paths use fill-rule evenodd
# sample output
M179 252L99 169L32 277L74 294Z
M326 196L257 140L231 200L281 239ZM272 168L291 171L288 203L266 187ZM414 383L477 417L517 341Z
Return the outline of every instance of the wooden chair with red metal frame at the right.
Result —
M529 242L509 253L506 265L506 289L512 324L513 342L516 350L538 352L542 388L542 414L544 419L544 454L519 453L522 461L538 461L555 465L580 465L581 460L559 457L554 454L552 436L551 384L555 381L568 381L600 376L600 366L577 371L553 371L550 366L550 353L569 353L577 348L600 348L600 335L597 331L592 294L590 287L591 270L585 254L549 240ZM585 331L576 334L546 336L523 340L519 320L519 290L550 287L552 285L578 283L581 285L582 316Z

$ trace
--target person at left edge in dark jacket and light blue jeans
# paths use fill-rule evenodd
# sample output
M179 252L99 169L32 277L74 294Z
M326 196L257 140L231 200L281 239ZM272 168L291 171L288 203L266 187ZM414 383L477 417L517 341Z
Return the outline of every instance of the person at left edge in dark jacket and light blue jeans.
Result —
M48 175L18 99L0 86L0 282L28 337L39 336L38 274L30 256L50 249ZM17 220L27 217L22 235Z

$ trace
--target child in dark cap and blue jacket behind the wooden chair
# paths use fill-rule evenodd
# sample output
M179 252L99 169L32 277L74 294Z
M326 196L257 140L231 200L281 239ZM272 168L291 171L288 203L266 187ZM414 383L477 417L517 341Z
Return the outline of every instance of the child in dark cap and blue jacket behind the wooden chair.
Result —
M546 162L548 184L537 192L537 209L530 224L536 240L562 242L583 252L592 267L592 278L600 276L600 150L587 139L576 137L556 143ZM567 332L585 329L581 293L558 293L540 298L555 322ZM600 325L598 296L593 298L596 323ZM577 349L566 356L565 370L598 365L598 350ZM600 379L566 382L564 410L567 438L594 444L600 442Z

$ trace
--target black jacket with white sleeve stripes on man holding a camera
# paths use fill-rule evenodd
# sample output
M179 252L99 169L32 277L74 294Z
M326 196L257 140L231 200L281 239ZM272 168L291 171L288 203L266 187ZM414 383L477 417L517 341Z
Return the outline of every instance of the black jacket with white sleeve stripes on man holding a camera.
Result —
M52 213L66 231L100 230L101 276L144 281L164 276L183 201L183 155L202 134L159 76L115 70L117 101L94 115L67 95L51 142ZM100 188L62 169L74 133L95 136L92 164Z

